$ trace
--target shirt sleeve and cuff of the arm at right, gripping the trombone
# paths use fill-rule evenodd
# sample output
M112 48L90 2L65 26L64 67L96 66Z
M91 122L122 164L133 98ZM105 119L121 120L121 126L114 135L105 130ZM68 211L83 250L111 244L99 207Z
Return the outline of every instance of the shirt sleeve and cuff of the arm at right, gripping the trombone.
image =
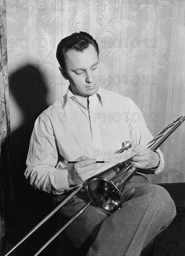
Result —
M153 139L153 135L148 130L143 115L137 105L129 99L131 102L129 104L128 110L128 126L130 130L130 136L132 138L134 145L147 145L149 141ZM165 166L164 156L160 149L155 150L159 154L160 162L156 169L146 169L142 170L145 174L159 174Z

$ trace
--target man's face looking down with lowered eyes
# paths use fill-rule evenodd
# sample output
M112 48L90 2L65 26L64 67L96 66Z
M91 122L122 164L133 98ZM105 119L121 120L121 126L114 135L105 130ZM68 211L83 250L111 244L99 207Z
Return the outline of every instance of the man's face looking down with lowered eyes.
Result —
M97 92L100 86L100 65L96 50L91 44L82 52L67 51L65 63L66 78L73 94L88 97Z

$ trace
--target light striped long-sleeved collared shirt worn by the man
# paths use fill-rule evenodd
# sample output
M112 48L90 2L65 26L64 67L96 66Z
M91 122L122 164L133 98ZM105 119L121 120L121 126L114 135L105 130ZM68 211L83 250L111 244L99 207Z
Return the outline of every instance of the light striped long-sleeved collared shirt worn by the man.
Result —
M131 99L100 87L89 96L88 109L81 97L68 88L35 121L25 176L34 188L61 194L70 189L68 171L72 164L66 161L75 161L82 155L108 160L123 141L131 141L134 147L146 145L152 138L140 109ZM159 149L157 152L159 167L145 173L158 174L163 170L164 158Z

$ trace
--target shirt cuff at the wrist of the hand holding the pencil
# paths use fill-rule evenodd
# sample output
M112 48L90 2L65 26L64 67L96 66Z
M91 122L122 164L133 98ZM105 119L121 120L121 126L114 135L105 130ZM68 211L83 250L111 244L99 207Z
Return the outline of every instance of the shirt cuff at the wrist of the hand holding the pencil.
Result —
M68 184L68 172L70 169L59 169L55 173L55 184L56 189L60 193L64 193L66 190L69 190Z

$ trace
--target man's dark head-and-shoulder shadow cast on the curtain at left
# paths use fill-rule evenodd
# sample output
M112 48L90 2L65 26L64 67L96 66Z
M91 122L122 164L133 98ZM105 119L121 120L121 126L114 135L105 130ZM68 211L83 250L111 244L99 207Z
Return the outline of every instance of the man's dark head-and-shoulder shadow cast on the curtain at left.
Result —
M48 107L46 104L47 88L42 74L31 65L10 75L9 86L22 112L22 115L21 113L12 114L12 117L17 115L17 118L22 120L21 126L11 134L13 185L14 188L27 188L29 185L24 176L26 157L34 122L38 115Z

